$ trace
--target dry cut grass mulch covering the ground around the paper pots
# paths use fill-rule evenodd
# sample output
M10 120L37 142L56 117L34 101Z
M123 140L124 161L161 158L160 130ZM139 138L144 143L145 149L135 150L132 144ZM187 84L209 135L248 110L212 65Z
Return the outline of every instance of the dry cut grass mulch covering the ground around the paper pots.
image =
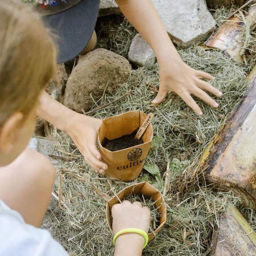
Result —
M130 33L134 30L126 20L118 24L123 34L119 37L118 30L112 31L114 37L110 47L125 56L132 38ZM123 35L129 35L129 39L125 40ZM103 40L99 39L98 44L104 46ZM197 99L204 113L198 117L174 93L170 93L161 105L151 105L159 81L159 68L155 64L151 69L133 70L129 80L113 95L94 98L93 108L96 108L130 92L120 101L91 114L106 118L136 109L154 113L154 139L147 163L159 167L162 184L168 166L170 191L165 195L167 223L146 247L143 255L147 256L208 255L219 215L228 204L238 202L230 193L212 192L204 184L199 184L197 177L185 195L181 192L203 150L244 94L248 69L243 63L234 63L229 56L217 50L195 46L179 50L179 53L191 67L215 76L212 84L223 92L223 97L216 99L218 109L212 109ZM89 168L68 135L54 133L53 136L58 141L57 149L62 152L63 161L57 170L59 184L56 184L54 191L60 195L60 204L53 198L46 215L50 231L70 255L112 255L114 246L106 223L106 200L133 183L146 180L155 185L155 177L144 170L133 182L106 179ZM241 209L241 213L256 229L256 212Z

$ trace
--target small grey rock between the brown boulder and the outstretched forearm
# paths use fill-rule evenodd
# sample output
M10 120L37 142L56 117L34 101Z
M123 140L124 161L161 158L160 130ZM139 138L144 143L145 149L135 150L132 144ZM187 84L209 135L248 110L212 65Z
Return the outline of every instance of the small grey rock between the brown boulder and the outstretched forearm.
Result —
M128 60L140 67L154 65L155 53L140 34L136 34L128 52Z

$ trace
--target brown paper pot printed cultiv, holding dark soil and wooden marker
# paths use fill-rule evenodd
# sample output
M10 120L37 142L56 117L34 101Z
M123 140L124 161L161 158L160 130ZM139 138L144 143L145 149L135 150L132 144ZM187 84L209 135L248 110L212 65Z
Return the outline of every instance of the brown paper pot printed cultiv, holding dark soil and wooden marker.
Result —
M101 143L104 138L113 140L131 134L142 125L145 118L146 114L136 110L103 120L98 131L98 142L102 161L108 165L108 176L131 181L140 175L153 138L151 124L141 137L143 144L111 152Z

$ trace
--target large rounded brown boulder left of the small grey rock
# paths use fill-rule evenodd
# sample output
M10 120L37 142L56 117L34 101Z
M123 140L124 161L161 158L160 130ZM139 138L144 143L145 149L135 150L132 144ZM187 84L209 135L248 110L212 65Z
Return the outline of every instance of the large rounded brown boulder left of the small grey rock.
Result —
M64 105L79 113L88 111L93 105L90 94L99 97L104 91L113 92L130 71L128 60L106 49L81 55L68 78Z

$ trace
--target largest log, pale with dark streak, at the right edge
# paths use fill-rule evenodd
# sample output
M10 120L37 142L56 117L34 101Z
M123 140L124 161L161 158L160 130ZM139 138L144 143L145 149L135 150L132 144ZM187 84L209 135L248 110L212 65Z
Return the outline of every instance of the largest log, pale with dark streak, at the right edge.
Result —
M256 209L256 72L245 96L208 145L195 172L207 184L233 191L245 207Z

